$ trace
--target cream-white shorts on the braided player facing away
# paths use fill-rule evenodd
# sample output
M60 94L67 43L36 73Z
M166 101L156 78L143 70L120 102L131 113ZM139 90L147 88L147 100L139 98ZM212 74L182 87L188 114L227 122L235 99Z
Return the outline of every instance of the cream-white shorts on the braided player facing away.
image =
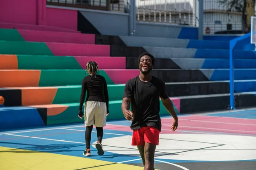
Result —
M106 126L107 105L105 102L87 101L84 105L84 125Z

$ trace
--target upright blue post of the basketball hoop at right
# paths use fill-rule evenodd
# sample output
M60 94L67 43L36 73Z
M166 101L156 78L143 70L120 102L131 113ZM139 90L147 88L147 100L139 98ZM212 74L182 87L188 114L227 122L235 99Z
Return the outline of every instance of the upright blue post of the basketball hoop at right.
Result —
M234 102L234 61L233 61L233 48L237 40L230 40L230 110L236 109Z

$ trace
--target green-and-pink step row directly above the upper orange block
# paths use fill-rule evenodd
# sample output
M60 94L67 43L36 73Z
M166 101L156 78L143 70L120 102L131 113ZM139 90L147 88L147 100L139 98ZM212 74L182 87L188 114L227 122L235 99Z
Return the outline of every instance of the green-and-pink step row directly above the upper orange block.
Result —
M0 41L0 54L109 57L110 46L56 42Z

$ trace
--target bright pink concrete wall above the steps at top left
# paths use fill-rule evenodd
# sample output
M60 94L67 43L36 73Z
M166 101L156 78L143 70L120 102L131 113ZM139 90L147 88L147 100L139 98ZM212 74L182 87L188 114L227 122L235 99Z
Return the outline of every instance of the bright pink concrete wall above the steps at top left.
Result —
M0 0L0 23L29 26L53 26L77 31L77 11L46 7L45 0ZM12 26L9 26L12 27Z

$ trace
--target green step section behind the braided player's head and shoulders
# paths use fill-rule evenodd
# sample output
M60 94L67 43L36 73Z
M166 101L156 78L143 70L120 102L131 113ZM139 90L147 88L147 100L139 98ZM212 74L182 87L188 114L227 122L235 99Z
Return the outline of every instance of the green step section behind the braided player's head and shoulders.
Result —
M105 71L100 70L99 74L107 84L114 84ZM41 70L39 86L81 85L84 76L84 70Z

